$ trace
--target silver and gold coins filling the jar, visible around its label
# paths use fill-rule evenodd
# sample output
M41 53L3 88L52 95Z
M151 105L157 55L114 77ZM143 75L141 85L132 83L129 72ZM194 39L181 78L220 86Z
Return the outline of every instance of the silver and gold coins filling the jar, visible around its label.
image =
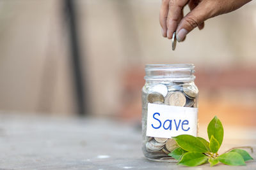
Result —
M160 83L148 87L147 90L148 103L196 107L198 89L190 83ZM147 111L147 107L143 108L143 111ZM143 129L147 129L147 124L144 124ZM143 130L143 136L146 137L145 149L152 154L163 153L164 155L168 155L168 153L178 147L177 143L172 138L154 138L146 136L145 130Z

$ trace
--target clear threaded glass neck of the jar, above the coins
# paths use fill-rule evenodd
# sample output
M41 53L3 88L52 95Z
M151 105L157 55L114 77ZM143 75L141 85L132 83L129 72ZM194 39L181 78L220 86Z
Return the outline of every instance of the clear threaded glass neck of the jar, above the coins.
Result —
M146 81L194 81L194 64L147 64Z

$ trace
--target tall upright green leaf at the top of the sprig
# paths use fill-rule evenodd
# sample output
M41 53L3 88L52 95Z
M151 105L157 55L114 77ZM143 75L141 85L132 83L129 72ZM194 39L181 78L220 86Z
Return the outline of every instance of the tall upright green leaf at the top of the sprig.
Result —
M219 142L220 146L223 141L223 126L220 122L220 119L218 117L212 118L211 122L209 123L207 127L207 133L208 133L208 138L211 140L211 136L213 135L215 139Z

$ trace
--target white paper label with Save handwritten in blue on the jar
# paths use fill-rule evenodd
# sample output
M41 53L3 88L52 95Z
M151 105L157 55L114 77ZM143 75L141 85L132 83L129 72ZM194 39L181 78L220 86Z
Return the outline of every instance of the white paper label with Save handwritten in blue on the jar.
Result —
M172 138L196 136L197 108L148 103L147 136Z

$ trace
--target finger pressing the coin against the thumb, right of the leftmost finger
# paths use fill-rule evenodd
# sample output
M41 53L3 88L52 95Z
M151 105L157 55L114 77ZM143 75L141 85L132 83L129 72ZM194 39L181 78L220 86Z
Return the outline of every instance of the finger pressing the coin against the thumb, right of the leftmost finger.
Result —
M170 0L169 12L166 20L167 38L171 39L172 34L176 31L179 21L182 18L182 10L189 0Z

